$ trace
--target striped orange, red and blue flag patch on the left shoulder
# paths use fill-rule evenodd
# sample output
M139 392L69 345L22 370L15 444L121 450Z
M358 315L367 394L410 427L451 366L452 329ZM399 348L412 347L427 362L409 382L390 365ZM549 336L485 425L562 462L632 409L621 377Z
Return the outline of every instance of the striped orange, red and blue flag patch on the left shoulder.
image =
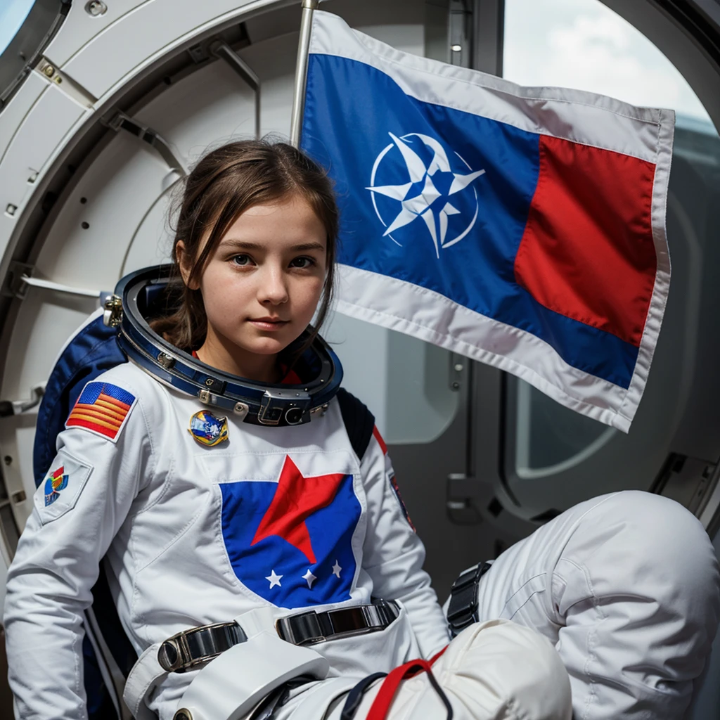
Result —
M66 428L85 428L113 442L130 417L135 395L109 382L89 382L71 410Z

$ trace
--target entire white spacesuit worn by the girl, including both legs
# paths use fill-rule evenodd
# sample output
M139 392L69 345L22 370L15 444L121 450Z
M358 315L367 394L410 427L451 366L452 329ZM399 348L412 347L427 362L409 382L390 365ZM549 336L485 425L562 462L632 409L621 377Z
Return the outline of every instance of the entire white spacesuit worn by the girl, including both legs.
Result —
M103 557L139 656L125 695L138 720L254 719L281 697L264 717L344 720L358 683L417 658L432 674L392 703L376 681L355 717L443 718L449 703L456 720L639 720L688 705L720 599L711 544L680 505L627 492L568 510L475 574L449 642L372 421L356 451L346 396L301 408L292 384L261 388L265 423L237 397L222 413L226 381L126 326L125 300L136 364L82 390L9 570L17 717L86 717L83 613ZM191 380L195 396L172 387Z

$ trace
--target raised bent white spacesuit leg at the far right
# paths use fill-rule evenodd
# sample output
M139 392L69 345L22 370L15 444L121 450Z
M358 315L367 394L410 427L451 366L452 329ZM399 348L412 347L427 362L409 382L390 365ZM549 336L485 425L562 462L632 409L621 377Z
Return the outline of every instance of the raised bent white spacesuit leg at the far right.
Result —
M539 630L576 720L681 718L720 616L714 549L678 503L626 491L567 510L482 578L480 619Z

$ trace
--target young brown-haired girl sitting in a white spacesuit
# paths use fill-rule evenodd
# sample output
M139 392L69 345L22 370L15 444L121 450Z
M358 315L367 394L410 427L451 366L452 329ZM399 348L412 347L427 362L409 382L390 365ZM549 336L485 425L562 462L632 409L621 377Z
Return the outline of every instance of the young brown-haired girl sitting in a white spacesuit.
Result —
M382 438L351 422L362 406L341 393L295 414L217 407L223 383L270 403L320 382L309 323L328 311L338 230L325 174L283 143L226 145L192 171L177 223L181 302L153 327L212 394L158 382L161 356L81 393L9 572L17 717L86 717L82 618L103 557L140 658L126 692L138 719L225 718L210 708L228 693L243 716L260 702L253 716L379 718L389 685L362 680L446 646L388 717L569 719L561 657L577 717L679 716L718 614L695 518L642 493L569 510L495 561L470 618L486 621L449 643Z

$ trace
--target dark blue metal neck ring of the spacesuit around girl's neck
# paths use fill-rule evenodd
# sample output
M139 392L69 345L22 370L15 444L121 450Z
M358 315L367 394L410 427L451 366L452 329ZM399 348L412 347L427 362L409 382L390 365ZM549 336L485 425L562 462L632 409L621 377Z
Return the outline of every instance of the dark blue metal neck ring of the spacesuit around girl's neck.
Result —
M295 426L325 414L338 392L343 369L320 336L315 336L297 359L298 374L305 381L302 384L271 384L230 375L158 336L150 321L173 307L171 269L166 264L130 273L120 279L114 295L105 302L103 321L118 328L118 344L130 362L159 382L246 423ZM301 347L306 333L293 344ZM292 351L292 346L289 349Z

